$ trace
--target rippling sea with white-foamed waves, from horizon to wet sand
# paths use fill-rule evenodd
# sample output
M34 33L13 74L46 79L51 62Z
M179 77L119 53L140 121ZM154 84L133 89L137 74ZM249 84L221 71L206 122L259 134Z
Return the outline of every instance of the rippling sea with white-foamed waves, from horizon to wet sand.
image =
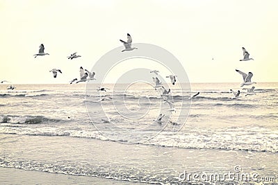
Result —
M180 100L191 101L186 124L179 132L172 132L174 126L170 124L152 124L158 111L163 109L158 106L161 96L144 85L115 92L114 99L108 92L100 92L100 98L95 91L98 85L92 87L90 96L85 96L84 84L16 85L17 89L13 91L7 91L6 86L1 85L0 166L156 184L183 184L179 179L183 170L224 173L236 165L245 172L277 175L278 83L258 83L256 94L246 97L246 91L240 89L238 83L191 86L192 94L200 92L192 101L188 100L190 96L181 95L179 89L172 89L177 109ZM113 85L106 87L110 91L113 89ZM229 89L240 89L241 97L231 99ZM125 104L117 98L123 93ZM85 105L93 113L92 120ZM134 113L118 114L124 105ZM102 109L106 116L101 113ZM138 112L146 109L149 109L147 116L136 117ZM134 119L130 121L124 116ZM171 119L174 118L175 114ZM111 130L111 122L125 129L147 127L147 130L140 133L142 135L122 136L119 130ZM101 134L94 124L102 125L102 133L115 134L113 141ZM159 130L162 132L158 133ZM156 136L133 143L147 134ZM65 149L66 143L78 145L78 150L84 154L62 155L60 150L73 152L70 148ZM93 155L85 149L92 146L95 146L91 148ZM35 154L33 157L29 152L20 154L23 149L19 148ZM129 150L140 152L140 157ZM101 158L106 152L111 152L108 156L115 157L117 164ZM90 157L94 162L88 161ZM111 161L109 165L108 161Z

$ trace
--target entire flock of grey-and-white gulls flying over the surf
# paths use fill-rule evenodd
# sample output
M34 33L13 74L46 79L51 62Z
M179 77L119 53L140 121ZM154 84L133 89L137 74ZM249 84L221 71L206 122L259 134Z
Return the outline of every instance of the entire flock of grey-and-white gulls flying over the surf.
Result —
M122 39L120 39L120 42L122 42L122 44L124 44L124 49L122 50L122 52L124 51L133 51L134 49L138 49L136 47L133 47L132 44L132 37L129 33L127 33L127 40L126 42ZM243 47L243 59L240 61L248 61L248 60L254 60L253 58L250 58L250 54L246 51L246 49ZM44 53L44 44L40 44L39 47L39 51L38 53L36 53L34 56L34 58L37 58L38 56L44 56L44 55L49 55L49 53ZM73 60L74 58L80 58L81 55L76 55L75 53L72 53L70 56L68 56L67 58L70 60ZM49 72L53 73L54 78L57 77L58 73L62 73L62 71L60 69L51 69ZM252 72L249 73L243 73L242 71L239 71L238 69L236 69L236 72L240 73L241 76L243 76L243 83L240 85L240 87L243 87L245 85L252 85L255 84L256 82L251 82L251 78L253 76ZM79 73L80 73L80 78L74 78L73 80L70 81L70 84L72 83L79 83L79 82L88 82L90 80L96 80L95 79L95 72L90 72L87 69L83 69L83 67L80 67L79 69ZM152 70L150 71L150 73L154 73L156 75L156 77L153 77L153 81L154 81L154 89L161 89L161 96L163 97L163 100L165 101L165 103L167 103L170 106L169 111L170 112L176 112L176 109L174 109L174 103L172 103L171 100L169 100L167 97L169 97L168 95L171 92L171 89L165 89L165 87L163 87L163 85L161 85L161 80L158 79L158 70ZM175 82L177 81L177 76L176 75L169 75L166 76L166 78L170 78L171 84L175 85ZM8 82L6 80L1 81L1 83L3 82ZM9 82L11 83L11 82ZM10 85L9 87L7 87L7 89L15 89L16 87L13 85ZM251 89L247 89L247 94L245 96L248 95L253 95L254 94L254 86ZM99 87L97 89L97 91L106 91L105 87ZM234 94L234 98L238 98L240 97L240 90L238 91L234 91L233 89L230 89L230 91ZM191 96L190 98L195 98L196 96L199 95L199 92L197 92L196 94L194 94L193 96ZM158 118L156 118L154 121L161 123L162 118L165 116L165 114L159 114ZM172 121L170 121L170 123L172 123L172 125L177 125L177 123L174 123Z

